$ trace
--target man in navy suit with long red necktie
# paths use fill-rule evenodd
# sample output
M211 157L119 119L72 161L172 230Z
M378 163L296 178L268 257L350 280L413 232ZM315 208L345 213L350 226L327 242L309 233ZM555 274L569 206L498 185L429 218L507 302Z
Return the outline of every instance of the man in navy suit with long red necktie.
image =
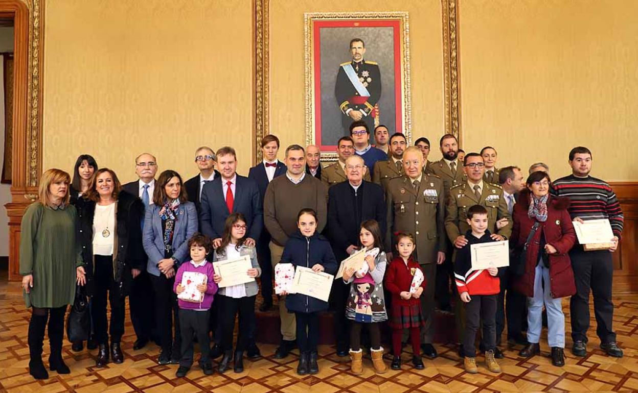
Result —
M255 180L237 175L237 154L235 149L224 146L217 150L217 165L219 174L212 182L205 183L200 198L200 221L202 232L212 239L212 245L221 245L226 218L232 213L242 213L246 217L247 246L255 247L263 228L263 203L259 187ZM216 323L218 323L216 321ZM219 332L219 329L216 329ZM255 345L255 326L249 334L249 344L246 355L250 359L260 357L259 348ZM221 354L219 348L219 334L215 335L215 346L211 357Z

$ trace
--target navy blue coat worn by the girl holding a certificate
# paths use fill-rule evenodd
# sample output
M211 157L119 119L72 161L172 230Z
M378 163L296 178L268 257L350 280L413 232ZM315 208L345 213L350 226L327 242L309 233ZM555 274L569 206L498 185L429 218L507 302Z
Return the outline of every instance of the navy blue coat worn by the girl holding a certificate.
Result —
M334 275L339 268L328 239L316 232L309 238L303 236L299 231L290 236L283 249L281 263L292 263L294 266L303 266L309 269L315 264L320 264L323 266L323 271L330 275ZM286 308L293 312L314 313L327 310L328 302L306 295L288 294L286 295Z

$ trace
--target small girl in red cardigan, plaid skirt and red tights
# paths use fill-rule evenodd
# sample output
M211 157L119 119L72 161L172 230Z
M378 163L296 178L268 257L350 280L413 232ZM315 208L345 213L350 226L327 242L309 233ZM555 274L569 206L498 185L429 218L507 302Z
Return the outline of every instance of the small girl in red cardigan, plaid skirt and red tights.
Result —
M399 255L392 259L385 272L385 287L392 294L390 327L394 359L390 367L395 370L401 369L401 336L403 329L410 329L412 364L416 369L423 369L425 366L421 360L420 327L424 324L425 318L421 313L419 297L426 287L426 280L423 280L414 293L410 293L415 272L421 269L419 263L412 258L415 248L414 237L412 234L399 232L395 243Z

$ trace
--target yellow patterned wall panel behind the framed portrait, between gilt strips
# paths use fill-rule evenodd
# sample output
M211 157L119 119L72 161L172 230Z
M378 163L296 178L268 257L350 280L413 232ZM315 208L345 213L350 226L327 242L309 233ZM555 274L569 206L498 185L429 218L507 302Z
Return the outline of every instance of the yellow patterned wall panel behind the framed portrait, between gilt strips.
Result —
M304 13L408 11L412 137L443 135L443 38L441 3L434 0L343 1L271 0L271 134L283 146L306 141L304 96ZM348 43L344 43L348 45ZM368 54L374 60L374 54ZM344 59L343 61L348 61ZM335 68L336 70L336 68ZM433 157L440 154L436 152Z

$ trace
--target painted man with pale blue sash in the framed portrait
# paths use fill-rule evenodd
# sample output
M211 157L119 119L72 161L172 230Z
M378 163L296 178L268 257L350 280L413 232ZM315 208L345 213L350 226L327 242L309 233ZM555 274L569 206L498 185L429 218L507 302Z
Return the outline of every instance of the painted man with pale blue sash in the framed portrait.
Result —
M366 44L362 39L350 40L352 61L340 64L337 73L334 94L342 113L341 124L346 135L350 132L350 124L358 120L364 120L367 129L375 129L375 119L378 117L375 105L381 98L381 72L376 62L364 60L365 53Z

